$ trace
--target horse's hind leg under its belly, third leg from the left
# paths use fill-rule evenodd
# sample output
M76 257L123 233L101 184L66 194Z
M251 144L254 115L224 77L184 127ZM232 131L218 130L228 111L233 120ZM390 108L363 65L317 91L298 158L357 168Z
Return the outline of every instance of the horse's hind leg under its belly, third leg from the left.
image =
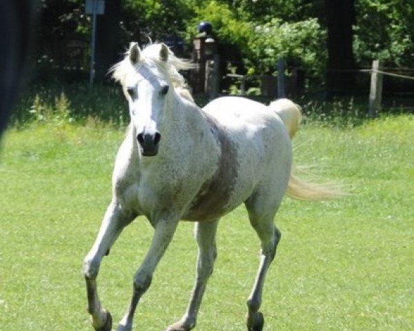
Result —
M167 331L188 331L195 327L201 299L206 290L208 278L213 273L213 265L217 257L215 243L217 224L218 220L198 222L195 224L195 237L197 239L199 252L193 294L191 295L190 303L182 319L168 326Z

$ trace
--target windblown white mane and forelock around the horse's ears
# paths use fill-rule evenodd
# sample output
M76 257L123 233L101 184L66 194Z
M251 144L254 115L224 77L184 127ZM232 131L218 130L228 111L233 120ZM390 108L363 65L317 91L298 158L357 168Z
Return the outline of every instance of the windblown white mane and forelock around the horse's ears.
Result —
M132 43L131 43L132 44ZM125 92L125 82L126 77L131 72L135 72L136 68L141 65L141 63L152 63L157 66L157 68L168 77L172 86L175 88L177 93L190 101L193 101L193 97L188 90L188 86L184 77L179 73L179 70L189 70L194 68L194 64L186 59L179 59L175 54L168 49L168 61L161 61L159 59L159 50L161 48L161 43L153 43L149 46L146 46L144 50L141 51L141 57L139 62L135 65L131 63L129 59L129 51L126 52L125 58L119 63L115 64L110 69L112 72L112 77L115 81L119 81L121 86L124 88Z

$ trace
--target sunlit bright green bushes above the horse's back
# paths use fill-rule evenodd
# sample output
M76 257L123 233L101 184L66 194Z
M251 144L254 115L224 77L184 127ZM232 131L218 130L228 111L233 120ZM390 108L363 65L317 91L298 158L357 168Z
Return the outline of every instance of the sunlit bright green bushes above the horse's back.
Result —
M189 35L196 34L197 22L211 21L219 42L238 46L249 74L275 72L279 57L303 66L311 76L322 73L326 62L326 31L317 19L289 23L264 15L260 21L252 13L245 12L244 9L250 7L248 3L244 5L235 10L224 1L206 2L197 9Z

